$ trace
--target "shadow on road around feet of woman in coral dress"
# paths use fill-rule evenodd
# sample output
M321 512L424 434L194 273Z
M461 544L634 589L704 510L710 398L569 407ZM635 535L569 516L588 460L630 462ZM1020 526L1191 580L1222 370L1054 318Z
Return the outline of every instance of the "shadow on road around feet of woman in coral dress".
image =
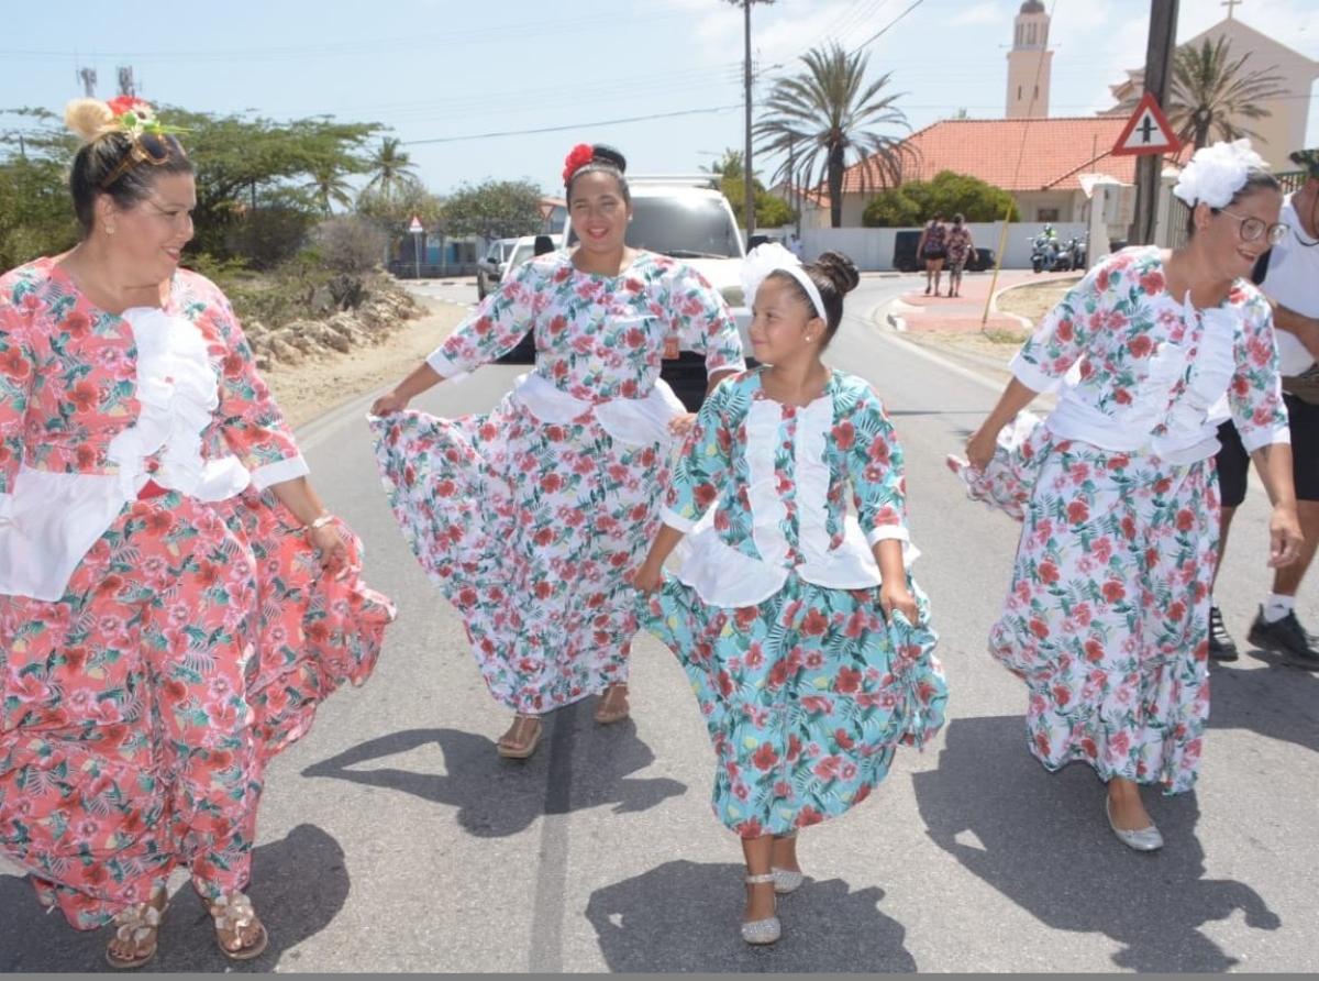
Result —
M339 842L313 824L301 824L282 841L252 853L248 895L270 935L265 953L231 961L215 943L215 926L193 886L170 881L170 908L160 931L160 953L133 973L268 973L286 951L324 930L348 898L348 870ZM32 885L0 877L0 972L88 973L109 970L109 927L78 931L58 911L46 914ZM293 956L297 956L295 953ZM111 972L113 973L113 972Z

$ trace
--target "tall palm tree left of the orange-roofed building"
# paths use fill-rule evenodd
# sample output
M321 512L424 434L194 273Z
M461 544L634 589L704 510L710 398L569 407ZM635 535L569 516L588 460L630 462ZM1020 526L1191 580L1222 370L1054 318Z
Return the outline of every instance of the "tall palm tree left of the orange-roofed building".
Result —
M860 168L863 191L898 184L911 151L881 128L911 127L894 106L901 94L882 95L892 73L865 85L868 57L861 51L848 54L832 42L811 49L802 61L806 71L774 83L756 135L761 149L787 156L776 180L827 182L830 224L838 228L843 224L843 173L849 161L865 161Z

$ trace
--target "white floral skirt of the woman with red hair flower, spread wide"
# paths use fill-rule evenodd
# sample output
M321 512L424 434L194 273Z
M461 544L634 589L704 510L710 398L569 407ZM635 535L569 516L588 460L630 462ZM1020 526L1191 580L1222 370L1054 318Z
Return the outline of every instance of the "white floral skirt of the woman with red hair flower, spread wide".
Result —
M485 684L538 714L628 680L628 577L657 529L658 445L624 445L594 412L372 419L394 518L463 618Z

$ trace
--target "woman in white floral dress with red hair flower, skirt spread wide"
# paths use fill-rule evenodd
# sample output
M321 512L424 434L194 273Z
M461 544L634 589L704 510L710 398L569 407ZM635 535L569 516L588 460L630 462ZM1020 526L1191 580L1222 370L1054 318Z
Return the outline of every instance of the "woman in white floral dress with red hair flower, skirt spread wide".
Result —
M576 147L563 180L571 252L538 256L372 405L394 515L463 615L491 693L514 710L499 753L525 759L541 714L600 694L628 714L637 618L628 576L656 527L671 433L686 419L660 380L666 349L706 355L711 388L741 370L723 297L698 272L627 244L623 156ZM405 412L409 400L536 333L536 370L488 415Z

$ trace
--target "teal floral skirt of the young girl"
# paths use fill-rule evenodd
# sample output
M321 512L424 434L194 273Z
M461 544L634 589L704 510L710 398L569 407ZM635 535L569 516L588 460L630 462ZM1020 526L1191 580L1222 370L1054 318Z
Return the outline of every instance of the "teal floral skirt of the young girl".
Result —
M888 776L894 749L943 726L947 685L929 601L890 627L878 589L790 576L757 606L707 606L666 573L644 626L678 656L714 745L711 808L745 838L836 817Z

